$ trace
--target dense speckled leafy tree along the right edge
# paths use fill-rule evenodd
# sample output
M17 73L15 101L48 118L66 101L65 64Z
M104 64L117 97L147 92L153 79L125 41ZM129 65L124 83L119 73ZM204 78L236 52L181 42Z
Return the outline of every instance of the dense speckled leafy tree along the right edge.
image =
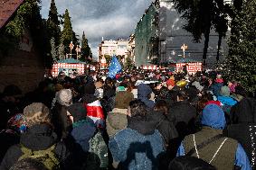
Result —
M256 2L243 1L242 10L234 10L229 53L223 67L230 80L241 81L250 92L256 90Z

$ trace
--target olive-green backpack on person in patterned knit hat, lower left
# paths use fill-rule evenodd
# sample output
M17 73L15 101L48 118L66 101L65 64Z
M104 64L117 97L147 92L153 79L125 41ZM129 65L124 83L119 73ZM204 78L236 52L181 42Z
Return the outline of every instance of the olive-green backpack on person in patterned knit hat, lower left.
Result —
M60 161L54 153L54 148L56 145L52 145L51 148L45 150L33 151L30 148L25 148L24 145L21 145L21 150L24 153L23 156L19 157L19 161L24 158L33 158L41 162L47 169L55 170L60 169Z

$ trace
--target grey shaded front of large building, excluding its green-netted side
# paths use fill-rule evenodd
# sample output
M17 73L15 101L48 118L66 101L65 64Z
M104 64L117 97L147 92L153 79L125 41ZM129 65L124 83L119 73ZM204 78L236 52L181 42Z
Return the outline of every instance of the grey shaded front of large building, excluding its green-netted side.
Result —
M187 46L187 49L185 49L185 58L202 60L204 36L202 36L202 40L199 43L195 43L192 34L183 29L183 25L186 21L181 18L181 14L177 13L174 4L169 0L160 0L159 6L158 30L160 63L172 62L183 58L184 51L181 49L183 44ZM208 66L216 62L218 39L218 33L211 31L206 56ZM225 50L227 50L227 43L226 40L223 39L220 53L221 60L223 59L222 56Z

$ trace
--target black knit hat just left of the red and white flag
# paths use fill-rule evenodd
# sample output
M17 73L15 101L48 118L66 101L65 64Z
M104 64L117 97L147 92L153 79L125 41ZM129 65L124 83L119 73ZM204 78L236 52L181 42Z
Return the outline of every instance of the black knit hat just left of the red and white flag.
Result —
M67 110L71 113L74 122L86 119L86 110L83 107L82 103L73 103L67 108Z

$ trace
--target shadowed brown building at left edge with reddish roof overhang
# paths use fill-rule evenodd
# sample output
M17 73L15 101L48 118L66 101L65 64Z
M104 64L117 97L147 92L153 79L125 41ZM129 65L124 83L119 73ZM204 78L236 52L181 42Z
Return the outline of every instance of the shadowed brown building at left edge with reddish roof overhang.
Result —
M5 26L11 22L24 0L3 1L0 3L0 41L5 37ZM3 42L0 42L0 44ZM6 85L17 85L23 93L31 92L43 80L45 67L43 58L35 47L33 35L28 28L18 46L0 47L0 91Z

